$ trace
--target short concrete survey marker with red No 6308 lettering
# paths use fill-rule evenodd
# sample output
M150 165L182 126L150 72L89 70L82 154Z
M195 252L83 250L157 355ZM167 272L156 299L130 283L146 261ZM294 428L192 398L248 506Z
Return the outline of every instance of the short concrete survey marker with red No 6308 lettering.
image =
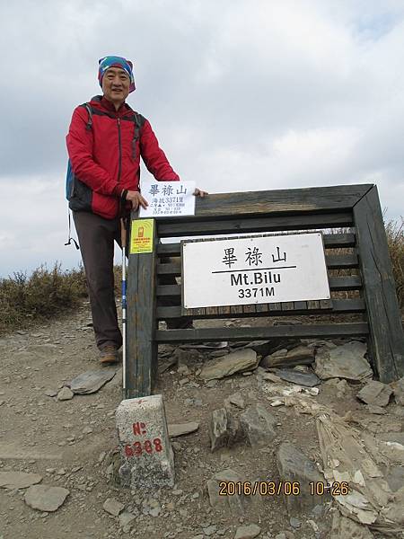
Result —
M122 484L132 490L174 486L174 457L162 395L122 401L116 417Z

